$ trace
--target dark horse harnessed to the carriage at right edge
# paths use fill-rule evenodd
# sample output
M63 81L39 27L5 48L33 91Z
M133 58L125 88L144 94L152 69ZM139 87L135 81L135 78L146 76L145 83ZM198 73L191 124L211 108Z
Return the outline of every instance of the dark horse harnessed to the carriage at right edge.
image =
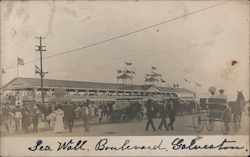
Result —
M237 98L235 101L228 102L228 106L231 107L232 113L238 122L241 121L242 112L245 110L245 97L242 91L237 91Z

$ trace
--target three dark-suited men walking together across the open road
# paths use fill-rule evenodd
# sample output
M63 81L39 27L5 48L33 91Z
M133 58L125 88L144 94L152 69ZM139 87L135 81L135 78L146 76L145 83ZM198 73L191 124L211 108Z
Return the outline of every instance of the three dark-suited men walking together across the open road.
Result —
M152 127L153 131L156 131L156 128L154 126L153 118L155 118L154 114L154 106L156 104L156 101L153 101L152 99L148 99L145 107L147 111L147 124L145 127L146 131L149 131L149 126ZM165 130L169 130L169 127L171 130L174 130L174 122L175 122L175 105L174 105L174 99L170 98L168 100L163 100L159 104L159 115L161 118L161 122L158 126L158 129L161 130L162 126L165 127ZM169 123L167 123L167 117L169 118Z

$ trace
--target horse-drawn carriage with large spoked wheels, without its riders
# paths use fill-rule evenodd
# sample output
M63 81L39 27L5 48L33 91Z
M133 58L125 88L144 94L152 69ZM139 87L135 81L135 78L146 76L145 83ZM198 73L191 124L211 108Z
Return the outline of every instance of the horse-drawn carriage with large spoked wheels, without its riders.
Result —
M193 128L195 132L202 132L204 126L212 131L215 122L220 122L221 132L229 131L237 133L240 129L240 113L235 110L233 104L227 103L223 98L207 98L204 104L197 105L193 115Z

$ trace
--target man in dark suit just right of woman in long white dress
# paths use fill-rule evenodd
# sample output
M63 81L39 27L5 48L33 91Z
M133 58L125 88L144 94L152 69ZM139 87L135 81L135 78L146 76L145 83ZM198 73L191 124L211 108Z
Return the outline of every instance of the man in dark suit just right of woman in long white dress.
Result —
M65 106L64 117L65 117L65 121L69 125L69 132L72 132L72 128L74 126L74 121L76 118L76 113L75 113L74 106L70 102L68 102Z

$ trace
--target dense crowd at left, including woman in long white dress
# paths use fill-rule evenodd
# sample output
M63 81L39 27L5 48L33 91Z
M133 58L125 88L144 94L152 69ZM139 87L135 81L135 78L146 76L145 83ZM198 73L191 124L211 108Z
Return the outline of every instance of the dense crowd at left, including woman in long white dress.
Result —
M90 121L102 123L110 119L114 103L95 104L86 102L61 102L54 105L42 104L11 104L4 103L0 114L2 134L36 133L39 130L53 129L63 132L69 128L72 132L75 120L83 120L85 131L89 131ZM64 127L65 126L65 127Z

